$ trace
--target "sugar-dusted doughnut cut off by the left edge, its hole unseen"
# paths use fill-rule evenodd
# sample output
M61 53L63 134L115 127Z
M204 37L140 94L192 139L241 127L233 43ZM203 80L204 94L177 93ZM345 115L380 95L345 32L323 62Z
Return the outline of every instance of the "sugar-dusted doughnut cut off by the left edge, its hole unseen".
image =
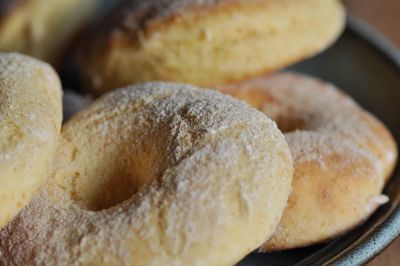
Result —
M49 174L61 120L54 70L27 56L0 53L0 228Z

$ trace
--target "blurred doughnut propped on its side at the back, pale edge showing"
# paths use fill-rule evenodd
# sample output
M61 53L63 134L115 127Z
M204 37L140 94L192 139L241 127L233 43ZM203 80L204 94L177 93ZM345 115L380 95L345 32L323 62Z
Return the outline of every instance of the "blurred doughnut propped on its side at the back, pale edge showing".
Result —
M125 0L77 65L94 94L153 80L214 86L320 52L344 20L337 0Z

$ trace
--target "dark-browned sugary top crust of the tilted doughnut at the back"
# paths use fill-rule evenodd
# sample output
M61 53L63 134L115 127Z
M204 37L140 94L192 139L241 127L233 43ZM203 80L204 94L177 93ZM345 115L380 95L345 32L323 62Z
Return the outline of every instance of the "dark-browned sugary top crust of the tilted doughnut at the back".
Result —
M254 0L253 0L254 1ZM257 1L257 0L256 0ZM125 0L106 16L95 28L95 40L91 36L87 40L88 48L83 53L90 53L92 47L100 51L111 50L118 43L119 36L124 34L132 42L140 41L143 34L151 34L159 27L168 27L186 12L215 12L221 8L229 8L232 4L244 3L244 0ZM99 52L99 51L95 51Z

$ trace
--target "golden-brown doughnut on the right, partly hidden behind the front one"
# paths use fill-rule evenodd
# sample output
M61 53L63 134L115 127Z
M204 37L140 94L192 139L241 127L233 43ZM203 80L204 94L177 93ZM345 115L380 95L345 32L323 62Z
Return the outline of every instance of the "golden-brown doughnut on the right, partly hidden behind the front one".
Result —
M330 84L286 73L220 89L274 119L292 152L293 192L262 250L331 239L387 201L381 193L396 162L396 144L385 126L349 96Z

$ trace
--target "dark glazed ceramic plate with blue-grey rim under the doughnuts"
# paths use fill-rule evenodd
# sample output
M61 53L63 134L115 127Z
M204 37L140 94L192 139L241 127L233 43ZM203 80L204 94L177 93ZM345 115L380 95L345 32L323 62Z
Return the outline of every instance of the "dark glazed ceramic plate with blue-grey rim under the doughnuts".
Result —
M339 41L321 55L290 68L338 85L389 127L400 143L400 51L355 18ZM390 202L366 223L324 245L270 254L251 254L240 266L359 265L400 234L400 167L384 193Z

